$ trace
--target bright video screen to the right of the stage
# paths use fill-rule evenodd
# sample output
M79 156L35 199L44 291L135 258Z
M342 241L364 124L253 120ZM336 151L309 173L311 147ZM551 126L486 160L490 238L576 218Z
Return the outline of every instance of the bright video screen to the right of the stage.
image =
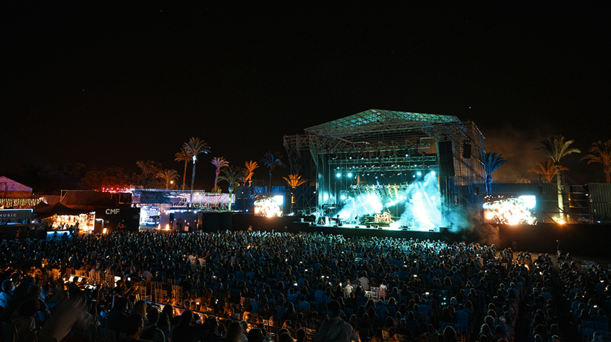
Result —
M536 217L532 209L536 207L536 197L532 195L507 197L486 196L484 208L484 221L486 223L499 223L505 225L535 225Z

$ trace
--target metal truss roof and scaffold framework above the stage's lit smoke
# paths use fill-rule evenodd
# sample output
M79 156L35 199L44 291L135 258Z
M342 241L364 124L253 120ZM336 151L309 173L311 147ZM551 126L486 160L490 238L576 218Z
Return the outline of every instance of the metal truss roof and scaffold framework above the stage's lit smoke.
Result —
M374 184L371 174L375 184L386 174L382 184L403 185L412 180L406 175L437 171L446 203L466 207L484 188L484 137L456 116L372 109L285 136L284 146L291 172L316 183L319 210L340 207L340 193L351 185Z

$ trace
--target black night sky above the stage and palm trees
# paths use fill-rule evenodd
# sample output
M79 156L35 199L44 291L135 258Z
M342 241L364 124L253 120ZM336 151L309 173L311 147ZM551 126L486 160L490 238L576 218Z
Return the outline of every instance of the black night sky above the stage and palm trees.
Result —
M474 121L510 160L500 181L536 179L526 170L544 160L543 136L582 151L611 138L602 9L330 4L8 13L0 174L75 162L136 171L137 160L182 174L174 154L197 136L212 152L196 185L211 188L212 157L286 155L282 136L370 108ZM604 181L579 157L566 159L569 177Z

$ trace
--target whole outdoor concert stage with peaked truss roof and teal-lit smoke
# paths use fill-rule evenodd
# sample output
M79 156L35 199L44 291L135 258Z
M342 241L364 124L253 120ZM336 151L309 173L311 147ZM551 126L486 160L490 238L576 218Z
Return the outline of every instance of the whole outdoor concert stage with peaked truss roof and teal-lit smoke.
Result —
M400 229L444 226L453 207L480 205L485 146L473 122L371 109L304 131L284 145L291 170L316 188L291 191L291 212Z

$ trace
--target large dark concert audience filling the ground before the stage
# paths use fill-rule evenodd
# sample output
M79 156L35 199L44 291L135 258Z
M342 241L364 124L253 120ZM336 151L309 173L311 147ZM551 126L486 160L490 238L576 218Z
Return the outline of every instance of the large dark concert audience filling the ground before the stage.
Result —
M6 341L590 341L611 304L607 269L439 240L111 232L4 240L0 263Z

